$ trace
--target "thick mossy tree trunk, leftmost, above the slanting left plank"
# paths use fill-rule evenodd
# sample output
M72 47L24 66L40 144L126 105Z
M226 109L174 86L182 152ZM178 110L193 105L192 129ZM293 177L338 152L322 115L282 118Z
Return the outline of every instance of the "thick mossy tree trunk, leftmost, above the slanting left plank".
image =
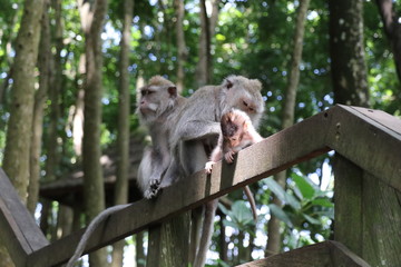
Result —
M43 7L43 0L27 1L23 7L21 27L16 41L10 119L2 165L23 202L27 201L29 184L35 67L38 59L40 19ZM6 249L0 249L0 266L13 266L9 264L9 256L4 251Z

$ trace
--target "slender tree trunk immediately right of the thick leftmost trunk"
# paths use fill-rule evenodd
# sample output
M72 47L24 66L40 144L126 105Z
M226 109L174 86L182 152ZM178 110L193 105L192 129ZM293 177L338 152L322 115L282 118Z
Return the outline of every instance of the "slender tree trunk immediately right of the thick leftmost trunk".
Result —
M41 21L41 37L38 57L38 68L40 71L39 90L35 96L33 121L32 121L32 139L30 150L30 180L28 187L28 210L33 215L39 197L40 180L40 152L43 132L43 108L47 98L51 77L51 43L50 43L50 21L48 14L49 3L46 2L45 12Z

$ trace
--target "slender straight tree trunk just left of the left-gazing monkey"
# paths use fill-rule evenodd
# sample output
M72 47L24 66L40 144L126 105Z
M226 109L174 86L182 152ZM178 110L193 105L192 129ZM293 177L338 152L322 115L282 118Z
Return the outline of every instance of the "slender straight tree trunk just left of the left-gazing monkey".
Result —
M134 0L124 1L123 34L120 41L120 85L118 95L118 132L117 132L117 180L115 187L115 205L126 204L128 201L128 171L129 171L129 48L133 24ZM125 240L114 245L113 267L123 266Z

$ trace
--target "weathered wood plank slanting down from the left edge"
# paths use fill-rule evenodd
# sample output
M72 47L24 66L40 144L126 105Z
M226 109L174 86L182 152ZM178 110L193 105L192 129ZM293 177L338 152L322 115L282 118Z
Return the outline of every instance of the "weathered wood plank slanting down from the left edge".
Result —
M0 238L7 240L3 245L16 266L25 266L27 255L49 244L1 168L0 229Z

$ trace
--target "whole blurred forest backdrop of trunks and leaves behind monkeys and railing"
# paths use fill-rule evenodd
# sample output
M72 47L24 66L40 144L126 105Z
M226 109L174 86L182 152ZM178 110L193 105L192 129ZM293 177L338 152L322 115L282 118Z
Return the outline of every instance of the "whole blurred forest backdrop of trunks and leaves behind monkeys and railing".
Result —
M84 169L90 219L106 206L99 159L117 148L114 204L128 200L125 148L129 139L144 138L136 89L151 76L165 76L186 97L233 73L260 79L265 137L335 102L400 117L399 0L0 3L0 161L51 240L81 227L85 217L82 209L39 198L39 182ZM232 266L330 239L332 161L330 154L293 167L284 181L252 185L257 224L242 191L225 197L207 264ZM127 245L126 251L136 253L127 254L126 265L143 266L147 240L141 234L114 250ZM114 266L121 266L117 255ZM107 266L98 260L96 266Z

